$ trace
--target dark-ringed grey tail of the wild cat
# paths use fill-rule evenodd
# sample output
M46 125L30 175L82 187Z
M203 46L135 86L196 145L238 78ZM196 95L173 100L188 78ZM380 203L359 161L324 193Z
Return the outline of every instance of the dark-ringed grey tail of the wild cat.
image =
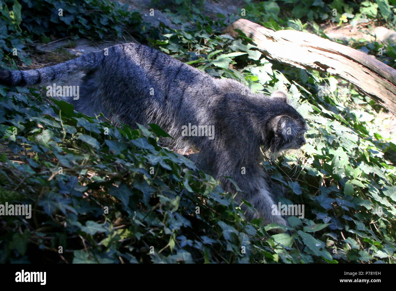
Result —
M65 63L60 63L51 67L40 68L37 70L0 70L0 84L11 87L51 82L81 70L93 70L97 68L103 58L103 51L95 51Z

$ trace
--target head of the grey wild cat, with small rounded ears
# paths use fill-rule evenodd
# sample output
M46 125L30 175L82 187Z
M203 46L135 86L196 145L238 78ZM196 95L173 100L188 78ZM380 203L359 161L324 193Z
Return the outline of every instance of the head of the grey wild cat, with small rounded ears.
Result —
M271 100L277 114L267 124L267 147L272 153L287 149L299 149L305 144L304 133L307 123L303 116L287 102L287 96L282 91L275 91Z

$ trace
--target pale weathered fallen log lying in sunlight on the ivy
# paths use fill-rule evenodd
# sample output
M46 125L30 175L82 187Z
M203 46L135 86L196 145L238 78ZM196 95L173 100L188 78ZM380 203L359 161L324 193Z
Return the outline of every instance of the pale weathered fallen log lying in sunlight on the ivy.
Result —
M268 58L339 76L396 116L396 70L372 55L315 34L296 30L273 31L247 19L235 21L224 32L236 37L235 29L253 39Z

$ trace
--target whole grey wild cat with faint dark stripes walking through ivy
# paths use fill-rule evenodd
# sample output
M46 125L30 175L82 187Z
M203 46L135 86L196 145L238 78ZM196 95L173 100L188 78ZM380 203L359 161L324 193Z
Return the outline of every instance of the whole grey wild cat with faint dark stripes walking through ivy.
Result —
M194 162L220 179L225 191L236 189L224 176L236 181L244 192L237 200L243 197L257 210L247 211L249 219L286 224L282 216L271 214L274 201L260 165L260 146L276 153L305 144L306 122L287 103L285 93L255 94L235 80L213 78L134 43L37 70L3 70L0 84L44 84L80 71L86 73L80 97L68 99L77 111L90 116L103 112L113 122L118 118L130 126L158 124L174 138L175 148L199 148ZM189 124L213 127L214 138L193 132L182 135L183 126Z

